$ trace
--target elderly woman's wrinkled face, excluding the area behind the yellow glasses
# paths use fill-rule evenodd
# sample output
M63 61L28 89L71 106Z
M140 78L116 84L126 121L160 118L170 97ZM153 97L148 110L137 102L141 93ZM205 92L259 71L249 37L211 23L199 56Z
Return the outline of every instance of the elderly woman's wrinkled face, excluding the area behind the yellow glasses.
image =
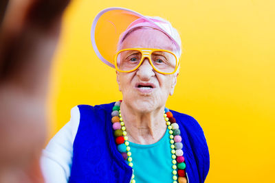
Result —
M175 46L166 34L157 29L137 29L122 42L121 49L152 48L173 51ZM131 73L117 72L123 101L140 112L150 112L165 106L177 82L177 73L164 75L153 70L148 58Z

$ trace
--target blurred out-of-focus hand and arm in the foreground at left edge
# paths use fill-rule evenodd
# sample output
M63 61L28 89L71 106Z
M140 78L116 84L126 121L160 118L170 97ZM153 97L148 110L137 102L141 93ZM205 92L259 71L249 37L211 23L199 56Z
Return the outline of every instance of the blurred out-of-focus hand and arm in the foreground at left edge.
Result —
M1 1L0 182L43 182L47 76L68 3Z

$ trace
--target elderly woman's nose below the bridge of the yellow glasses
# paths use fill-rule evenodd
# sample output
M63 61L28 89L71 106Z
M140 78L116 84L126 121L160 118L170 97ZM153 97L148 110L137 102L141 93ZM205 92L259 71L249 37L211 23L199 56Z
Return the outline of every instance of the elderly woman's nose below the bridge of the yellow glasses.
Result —
M155 72L150 61L148 58L144 58L142 64L137 69L137 76L140 77L141 80L149 80L153 75L155 75Z

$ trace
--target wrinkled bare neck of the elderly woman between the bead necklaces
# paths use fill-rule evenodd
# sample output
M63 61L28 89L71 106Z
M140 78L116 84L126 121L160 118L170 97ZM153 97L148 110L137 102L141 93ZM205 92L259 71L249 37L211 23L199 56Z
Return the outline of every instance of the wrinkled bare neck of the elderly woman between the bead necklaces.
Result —
M140 112L122 102L120 110L130 142L142 145L153 144L164 136L166 132L164 108Z

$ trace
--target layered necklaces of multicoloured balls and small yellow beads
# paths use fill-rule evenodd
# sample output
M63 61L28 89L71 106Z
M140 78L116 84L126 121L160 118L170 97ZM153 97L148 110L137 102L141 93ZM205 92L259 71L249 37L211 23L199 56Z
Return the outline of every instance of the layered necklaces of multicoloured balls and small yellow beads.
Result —
M121 101L115 102L115 106L113 106L113 112L111 113L111 122L113 123L115 143L117 144L118 151L120 151L124 160L127 160L129 162L129 166L133 167L133 158L131 158L131 148L129 147L128 137L126 136L126 127L120 113L120 103ZM182 151L183 145L181 143L179 125L176 123L172 112L170 112L168 108L165 108L164 110L164 119L170 134L170 148L173 163L173 183L186 183L186 163L183 156L184 151ZM135 183L134 174L132 175L131 183Z

